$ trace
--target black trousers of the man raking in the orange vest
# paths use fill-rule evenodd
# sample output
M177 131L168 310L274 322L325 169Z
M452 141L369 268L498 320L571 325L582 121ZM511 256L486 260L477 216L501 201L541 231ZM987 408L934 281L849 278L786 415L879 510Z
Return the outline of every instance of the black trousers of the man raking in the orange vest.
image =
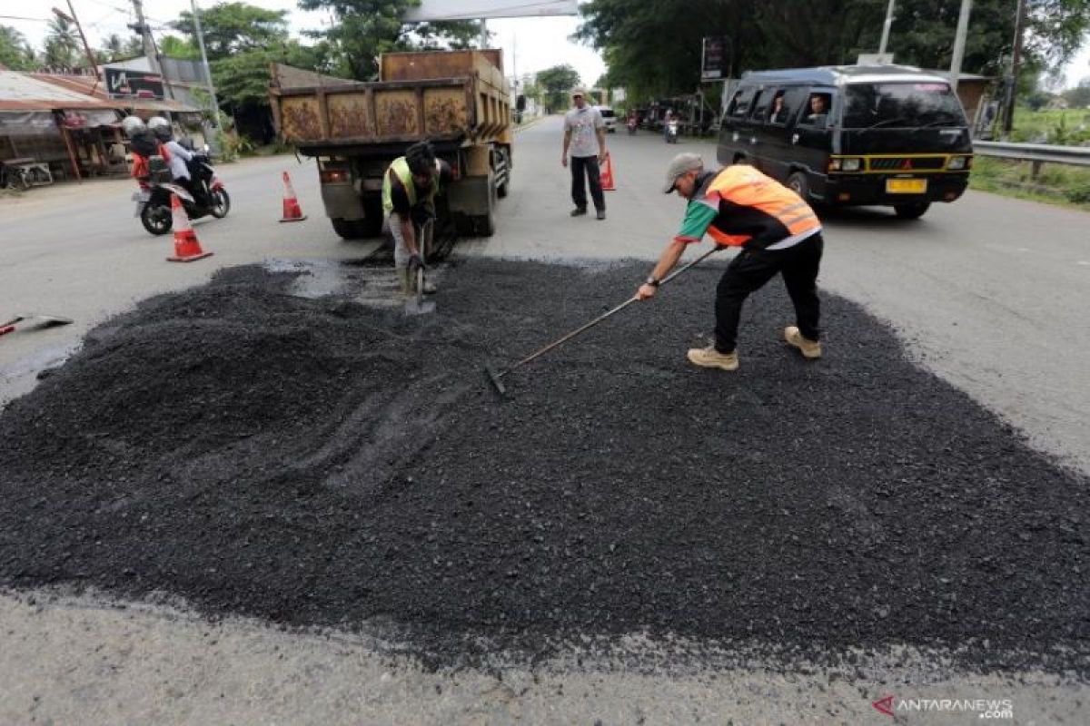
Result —
M743 249L727 266L715 291L715 349L732 353L738 343L738 319L742 304L776 273L784 275L787 294L795 305L795 324L803 337L821 339L818 268L825 243L821 233L794 247L778 250Z

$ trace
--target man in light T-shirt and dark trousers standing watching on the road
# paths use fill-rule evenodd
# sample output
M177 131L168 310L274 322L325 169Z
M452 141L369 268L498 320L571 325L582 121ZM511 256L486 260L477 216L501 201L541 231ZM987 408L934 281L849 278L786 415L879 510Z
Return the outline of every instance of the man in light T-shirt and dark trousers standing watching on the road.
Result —
M589 183L597 218L604 220L606 200L602 194L598 163L606 158L606 125L598 110L586 103L586 91L582 88L571 91L571 102L574 108L564 116L564 150L560 152L560 163L567 167L568 152L571 151L571 200L576 202L571 216L586 213Z

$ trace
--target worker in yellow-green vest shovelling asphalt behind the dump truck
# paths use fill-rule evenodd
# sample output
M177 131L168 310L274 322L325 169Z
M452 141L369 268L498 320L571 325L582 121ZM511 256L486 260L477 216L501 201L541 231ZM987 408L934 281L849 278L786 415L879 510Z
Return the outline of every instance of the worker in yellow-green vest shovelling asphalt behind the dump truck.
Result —
M385 224L393 237L393 267L402 295L415 290L416 269L425 267L435 227L435 197L451 180L450 165L435 158L427 141L413 144L383 176ZM425 282L424 293L435 285Z

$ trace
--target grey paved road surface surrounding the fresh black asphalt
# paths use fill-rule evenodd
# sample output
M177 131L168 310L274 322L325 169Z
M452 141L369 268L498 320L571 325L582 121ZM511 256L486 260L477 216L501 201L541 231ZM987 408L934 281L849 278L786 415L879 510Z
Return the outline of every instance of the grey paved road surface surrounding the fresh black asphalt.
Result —
M497 235L463 243L460 254L653 259L682 213L676 197L656 188L666 161L679 150L712 160L714 146L686 139L666 146L650 135L609 141L619 188L607 196L606 221L567 216L559 120L548 119L518 138ZM276 221L281 169L292 170L306 222ZM0 402L28 390L35 372L61 359L89 327L148 295L198 284L220 266L343 259L374 247L332 233L308 162L299 167L281 157L220 172L234 208L227 220L197 223L216 256L193 264L164 261L171 242L148 236L131 217L131 182L0 199L0 311L77 319L0 339ZM882 210L831 214L822 284L893 323L923 365L1036 445L1090 471L1083 433L1088 221L1083 213L982 194L933 208L917 222ZM618 302L630 293L617 291ZM711 307L693 315L710 320ZM827 345L836 345L835 330ZM760 664L671 667L671 647L638 640L631 647L642 654L641 673L586 654L583 667L512 667L502 680L475 672L427 674L376 657L354 638L239 620L211 625L168 610L117 610L93 598L41 594L34 602L25 594L0 598L0 723L883 723L870 702L889 692L1012 698L1019 723L1081 723L1080 704L1090 697L1085 685L1040 674L952 673L919 653L861 654L836 678L820 669L770 674Z

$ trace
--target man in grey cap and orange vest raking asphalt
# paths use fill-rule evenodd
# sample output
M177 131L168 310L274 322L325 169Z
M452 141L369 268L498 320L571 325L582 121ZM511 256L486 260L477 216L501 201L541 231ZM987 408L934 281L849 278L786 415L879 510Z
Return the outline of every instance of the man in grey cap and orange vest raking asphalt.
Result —
M637 291L641 300L654 297L658 283L674 269L690 243L704 234L715 244L739 247L715 294L715 342L689 350L689 360L704 368L738 368L738 320L749 295L777 273L795 306L795 324L784 340L804 358L821 358L821 221L795 192L748 164L705 172L695 153L679 153L666 172L666 194L688 199L681 231L666 246L651 276Z

